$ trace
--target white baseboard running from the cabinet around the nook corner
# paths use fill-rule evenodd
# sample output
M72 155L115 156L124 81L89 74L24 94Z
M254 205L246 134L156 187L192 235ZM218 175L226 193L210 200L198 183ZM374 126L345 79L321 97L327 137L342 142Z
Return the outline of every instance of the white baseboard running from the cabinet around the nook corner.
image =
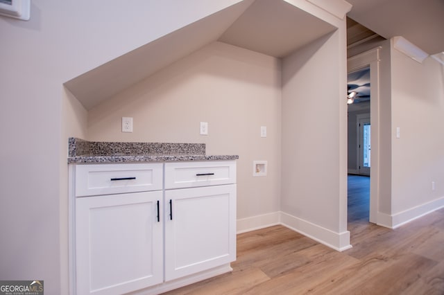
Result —
M280 211L237 220L237 233L264 229L265 227L276 224L282 224L336 251L344 251L352 247L350 245L349 231L335 233L334 231L330 231L330 229L325 229L322 226Z

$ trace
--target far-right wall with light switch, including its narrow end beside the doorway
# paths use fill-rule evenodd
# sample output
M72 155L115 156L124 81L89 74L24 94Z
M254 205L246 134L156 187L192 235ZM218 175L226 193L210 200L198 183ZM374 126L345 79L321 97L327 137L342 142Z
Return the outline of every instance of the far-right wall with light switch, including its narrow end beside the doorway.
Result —
M377 45L377 223L395 228L444 206L444 69L431 57L412 60L392 40Z

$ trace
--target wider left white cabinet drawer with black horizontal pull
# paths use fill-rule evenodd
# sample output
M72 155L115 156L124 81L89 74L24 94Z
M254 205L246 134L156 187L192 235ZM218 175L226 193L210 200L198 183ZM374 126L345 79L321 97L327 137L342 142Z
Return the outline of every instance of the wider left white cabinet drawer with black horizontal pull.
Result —
M77 165L76 197L162 190L162 165Z

